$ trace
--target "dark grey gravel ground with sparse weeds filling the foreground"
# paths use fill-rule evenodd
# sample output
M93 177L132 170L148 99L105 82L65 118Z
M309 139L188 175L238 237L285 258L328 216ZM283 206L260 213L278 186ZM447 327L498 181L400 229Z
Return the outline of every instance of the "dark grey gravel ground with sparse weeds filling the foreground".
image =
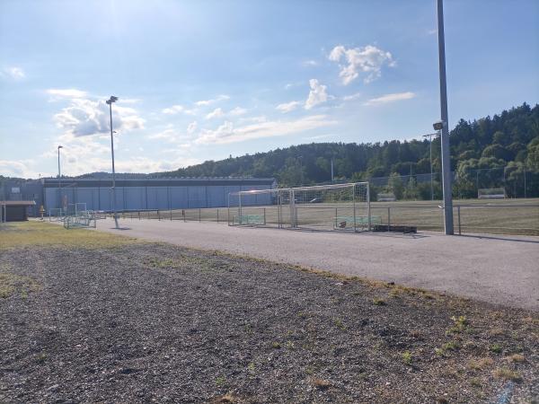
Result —
M1 274L2 403L538 402L537 312L157 243Z

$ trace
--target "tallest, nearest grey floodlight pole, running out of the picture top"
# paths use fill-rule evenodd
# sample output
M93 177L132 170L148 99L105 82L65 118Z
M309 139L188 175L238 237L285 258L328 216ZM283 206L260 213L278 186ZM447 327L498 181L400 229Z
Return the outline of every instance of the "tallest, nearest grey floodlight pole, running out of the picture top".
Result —
M449 154L449 127L447 119L446 44L444 39L444 2L437 0L438 63L440 72L440 112L442 145L442 184L444 190L444 228L446 234L453 234L453 195L451 188L451 162Z

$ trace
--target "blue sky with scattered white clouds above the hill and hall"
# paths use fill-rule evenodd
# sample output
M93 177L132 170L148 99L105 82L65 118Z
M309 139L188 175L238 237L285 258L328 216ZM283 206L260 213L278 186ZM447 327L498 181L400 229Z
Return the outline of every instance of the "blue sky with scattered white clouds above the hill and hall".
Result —
M449 126L539 101L539 1L446 0ZM171 171L439 120L436 0L0 1L0 174Z

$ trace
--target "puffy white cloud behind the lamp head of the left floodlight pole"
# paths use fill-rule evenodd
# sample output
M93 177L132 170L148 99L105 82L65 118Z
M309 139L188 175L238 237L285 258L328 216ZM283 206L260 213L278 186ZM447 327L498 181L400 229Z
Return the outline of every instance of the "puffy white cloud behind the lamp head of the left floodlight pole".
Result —
M110 131L109 106L105 101L73 99L68 107L54 116L58 127L66 133L78 136L105 134ZM129 131L144 127L145 120L132 108L115 105L112 120L117 131Z

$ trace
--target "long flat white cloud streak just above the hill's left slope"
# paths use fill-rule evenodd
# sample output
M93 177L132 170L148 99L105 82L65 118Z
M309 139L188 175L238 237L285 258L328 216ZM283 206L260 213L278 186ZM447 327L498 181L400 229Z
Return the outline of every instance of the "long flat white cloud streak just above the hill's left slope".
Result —
M287 136L336 123L334 120L327 119L325 115L313 115L291 121L266 121L243 127L234 127L232 122L226 121L215 130L203 130L195 143L223 145L261 137Z

